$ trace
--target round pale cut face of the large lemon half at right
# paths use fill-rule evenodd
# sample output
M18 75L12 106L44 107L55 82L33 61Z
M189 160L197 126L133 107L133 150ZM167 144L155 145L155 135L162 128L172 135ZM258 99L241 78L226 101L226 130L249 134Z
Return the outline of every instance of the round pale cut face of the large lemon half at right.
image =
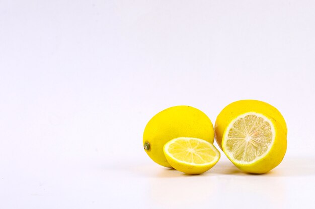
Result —
M235 163L250 164L268 153L274 136L274 127L267 117L246 113L227 127L223 149Z

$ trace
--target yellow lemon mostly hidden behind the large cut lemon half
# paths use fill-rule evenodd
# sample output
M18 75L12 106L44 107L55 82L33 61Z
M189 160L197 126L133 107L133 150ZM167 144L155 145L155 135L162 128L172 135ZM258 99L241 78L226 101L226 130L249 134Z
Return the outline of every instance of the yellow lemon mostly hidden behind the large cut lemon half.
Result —
M258 100L240 100L227 105L217 116L214 129L215 140L222 149L222 136L225 128L235 116L246 112L266 114L276 120L287 134L287 126L281 113L272 105Z

